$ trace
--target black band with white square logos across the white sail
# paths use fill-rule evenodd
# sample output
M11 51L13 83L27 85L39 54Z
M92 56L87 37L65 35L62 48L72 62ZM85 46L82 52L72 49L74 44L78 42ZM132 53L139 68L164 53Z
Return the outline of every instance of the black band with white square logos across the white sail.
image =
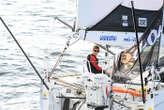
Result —
M153 19L157 16L158 11L150 10L135 10L138 32L145 32ZM119 5L104 19L96 25L88 29L89 31L119 31L119 32L134 32L133 19L131 9Z

